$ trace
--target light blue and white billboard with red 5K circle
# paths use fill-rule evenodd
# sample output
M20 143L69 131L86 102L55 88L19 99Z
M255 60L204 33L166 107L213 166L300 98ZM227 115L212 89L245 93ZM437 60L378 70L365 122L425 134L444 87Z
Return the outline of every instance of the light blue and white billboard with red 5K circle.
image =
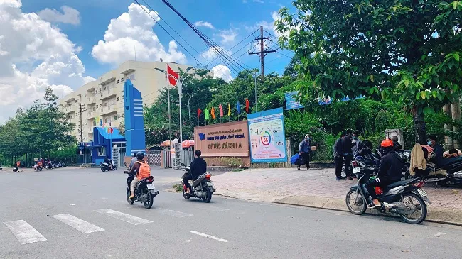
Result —
M251 162L287 162L283 109L248 115Z

